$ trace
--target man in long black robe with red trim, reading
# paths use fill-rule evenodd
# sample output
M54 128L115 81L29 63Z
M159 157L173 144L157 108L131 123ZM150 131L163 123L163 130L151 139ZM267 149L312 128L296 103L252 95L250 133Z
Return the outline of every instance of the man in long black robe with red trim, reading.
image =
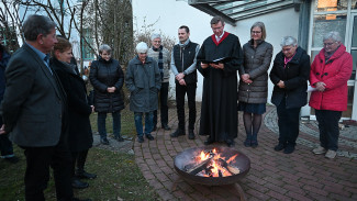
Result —
M236 35L224 32L221 16L211 20L213 35L197 56L198 70L204 77L200 135L209 135L205 145L225 142L234 146L237 137L237 69L243 52Z

